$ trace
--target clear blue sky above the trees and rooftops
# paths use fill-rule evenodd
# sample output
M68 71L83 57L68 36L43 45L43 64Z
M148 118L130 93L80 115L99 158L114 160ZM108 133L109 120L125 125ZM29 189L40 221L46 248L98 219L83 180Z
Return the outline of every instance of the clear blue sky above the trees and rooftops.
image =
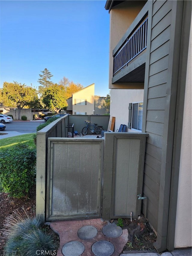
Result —
M95 95L109 93L109 14L106 1L0 1L0 87L3 82L38 87L47 68Z

